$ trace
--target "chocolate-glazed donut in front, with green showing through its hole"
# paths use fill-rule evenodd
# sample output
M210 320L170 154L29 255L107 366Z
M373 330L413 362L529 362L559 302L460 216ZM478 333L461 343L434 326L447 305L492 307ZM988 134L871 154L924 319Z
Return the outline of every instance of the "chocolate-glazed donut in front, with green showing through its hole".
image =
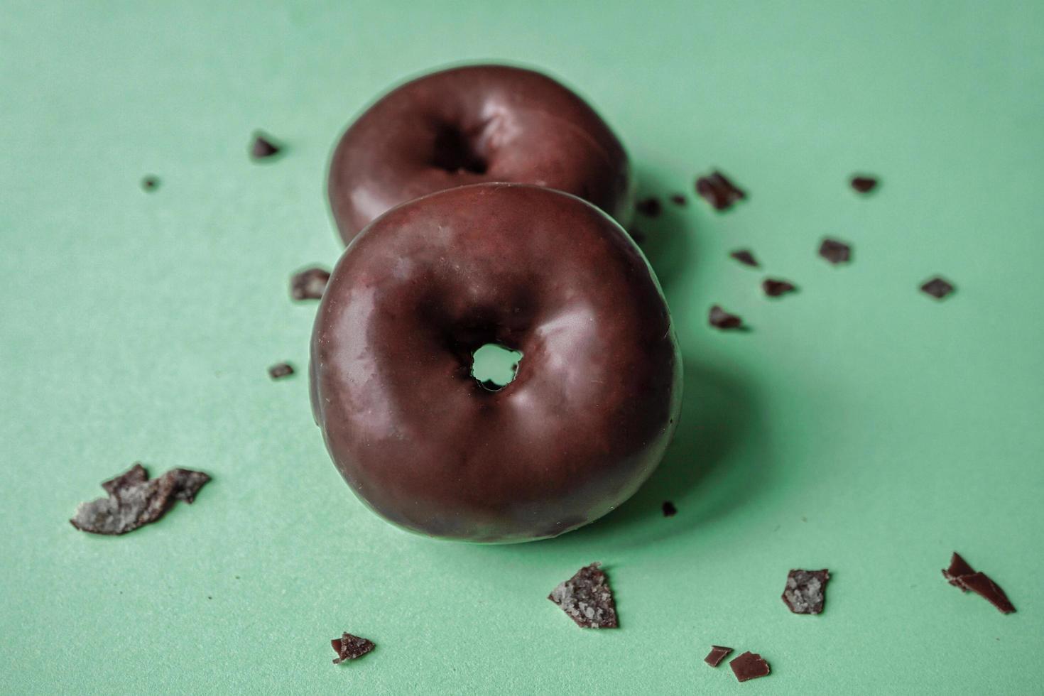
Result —
M472 354L522 353L491 391ZM682 363L626 233L584 200L480 184L393 209L333 271L311 399L353 490L397 525L524 542L591 522L659 463Z

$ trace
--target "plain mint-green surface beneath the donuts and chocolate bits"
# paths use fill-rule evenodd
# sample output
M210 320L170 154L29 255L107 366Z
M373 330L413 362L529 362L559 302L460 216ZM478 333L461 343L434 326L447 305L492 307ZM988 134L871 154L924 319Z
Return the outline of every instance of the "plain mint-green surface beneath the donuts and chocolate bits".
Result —
M5 0L0 51L0 692L1044 690L1044 4ZM340 128L491 58L590 98L641 192L716 166L751 193L642 224L687 370L663 465L508 547L377 519L307 380L265 374L307 363L286 285L339 253ZM248 160L258 127L284 157ZM851 265L815 255L828 234ZM766 299L764 272L800 293ZM935 272L942 303L917 290ZM753 331L710 330L712 303ZM214 480L127 536L73 530L139 459ZM955 549L1018 614L943 581ZM620 630L545 599L593 560ZM802 567L831 569L822 616L780 601ZM379 647L334 667L342 630ZM736 683L711 643L773 674Z

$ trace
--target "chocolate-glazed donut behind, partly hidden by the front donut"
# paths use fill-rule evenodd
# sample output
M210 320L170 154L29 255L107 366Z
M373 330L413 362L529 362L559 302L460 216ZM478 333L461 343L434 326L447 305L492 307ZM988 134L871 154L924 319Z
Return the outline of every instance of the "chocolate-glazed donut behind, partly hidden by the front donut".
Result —
M388 209L482 182L572 193L626 224L627 154L578 96L506 66L453 68L393 90L340 139L329 195L345 243Z

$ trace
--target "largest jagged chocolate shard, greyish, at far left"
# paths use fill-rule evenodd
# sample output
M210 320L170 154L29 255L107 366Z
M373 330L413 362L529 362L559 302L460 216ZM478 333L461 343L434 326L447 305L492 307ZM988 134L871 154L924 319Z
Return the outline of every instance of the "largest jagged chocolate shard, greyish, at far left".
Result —
M191 503L210 476L188 469L171 469L160 478L148 479L141 463L135 463L101 487L109 498L80 503L69 522L92 534L125 534L156 522L175 500Z

